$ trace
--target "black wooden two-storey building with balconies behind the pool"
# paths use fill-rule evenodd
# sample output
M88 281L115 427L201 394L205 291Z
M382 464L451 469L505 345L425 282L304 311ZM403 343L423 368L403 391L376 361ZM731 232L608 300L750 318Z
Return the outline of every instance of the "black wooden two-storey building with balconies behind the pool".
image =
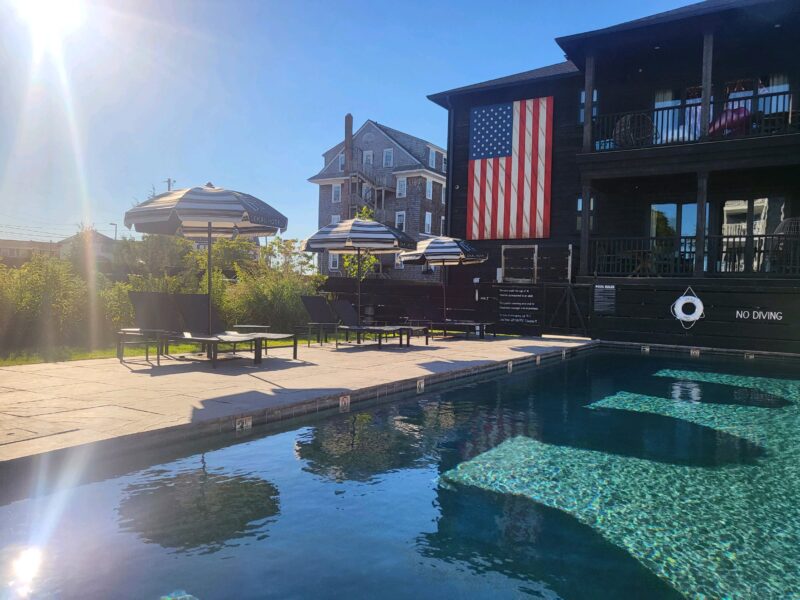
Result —
M583 286L595 337L800 352L798 33L796 0L709 0L430 96L449 115L455 237L474 109L553 99L549 236L476 239L489 261L451 283ZM692 295L702 314L684 301L676 318Z

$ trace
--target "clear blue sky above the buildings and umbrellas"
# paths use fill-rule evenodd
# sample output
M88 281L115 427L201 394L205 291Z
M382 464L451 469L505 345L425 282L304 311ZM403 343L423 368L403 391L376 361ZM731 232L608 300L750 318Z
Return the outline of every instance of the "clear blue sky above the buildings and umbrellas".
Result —
M691 3L50 0L79 2L80 18L43 52L29 23L51 13L23 19L30 1L0 0L0 238L41 241L80 223L127 234L125 211L167 178L257 196L288 217L285 237L307 237L307 179L346 113L446 147L428 94L560 62L555 37Z

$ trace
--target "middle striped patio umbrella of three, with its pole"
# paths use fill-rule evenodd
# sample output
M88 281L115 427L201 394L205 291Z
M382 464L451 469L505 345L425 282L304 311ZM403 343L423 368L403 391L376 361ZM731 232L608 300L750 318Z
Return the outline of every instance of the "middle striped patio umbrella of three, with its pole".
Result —
M326 225L307 240L301 250L305 252L332 252L355 254L358 257L358 319L361 322L361 257L370 254L397 254L416 248L414 238L378 221L349 219Z

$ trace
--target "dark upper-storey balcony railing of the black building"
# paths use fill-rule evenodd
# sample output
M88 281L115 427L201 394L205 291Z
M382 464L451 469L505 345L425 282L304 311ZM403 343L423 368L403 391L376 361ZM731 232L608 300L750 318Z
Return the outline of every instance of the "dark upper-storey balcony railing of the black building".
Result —
M800 113L791 92L735 92L725 101L711 103L707 137L702 136L700 100L692 99L675 106L599 115L592 139L595 151L603 152L798 132Z

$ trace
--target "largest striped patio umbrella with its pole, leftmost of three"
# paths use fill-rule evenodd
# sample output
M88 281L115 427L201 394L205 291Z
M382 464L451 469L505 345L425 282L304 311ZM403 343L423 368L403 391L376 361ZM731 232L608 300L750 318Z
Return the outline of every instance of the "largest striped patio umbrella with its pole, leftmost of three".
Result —
M250 194L207 183L171 190L125 213L125 226L139 233L208 239L208 332L211 331L211 244L215 237L271 236L286 231L288 219Z

